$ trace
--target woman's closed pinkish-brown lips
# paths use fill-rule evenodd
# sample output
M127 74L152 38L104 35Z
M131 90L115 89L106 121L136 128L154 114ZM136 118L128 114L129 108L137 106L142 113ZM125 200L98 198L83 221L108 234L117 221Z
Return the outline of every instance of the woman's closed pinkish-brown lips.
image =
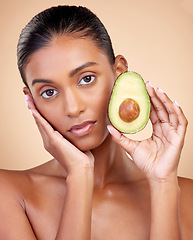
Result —
M81 124L74 125L71 127L69 132L76 137L83 137L90 133L95 123L95 121L86 121Z

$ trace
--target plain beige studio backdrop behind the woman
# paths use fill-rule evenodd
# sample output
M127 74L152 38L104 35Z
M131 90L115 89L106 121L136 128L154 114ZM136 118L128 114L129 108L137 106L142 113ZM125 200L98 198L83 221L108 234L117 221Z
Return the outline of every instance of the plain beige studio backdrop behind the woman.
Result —
M0 168L26 169L51 159L25 106L16 45L36 13L59 4L94 11L111 35L115 54L123 54L130 70L182 106L189 126L179 175L193 178L193 0L1 0Z

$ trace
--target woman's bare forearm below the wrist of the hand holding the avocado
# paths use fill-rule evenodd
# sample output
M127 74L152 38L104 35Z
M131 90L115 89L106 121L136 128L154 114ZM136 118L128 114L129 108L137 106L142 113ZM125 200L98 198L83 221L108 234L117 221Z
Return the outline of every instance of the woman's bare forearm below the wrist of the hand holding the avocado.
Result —
M151 189L151 240L182 239L177 178L154 182Z

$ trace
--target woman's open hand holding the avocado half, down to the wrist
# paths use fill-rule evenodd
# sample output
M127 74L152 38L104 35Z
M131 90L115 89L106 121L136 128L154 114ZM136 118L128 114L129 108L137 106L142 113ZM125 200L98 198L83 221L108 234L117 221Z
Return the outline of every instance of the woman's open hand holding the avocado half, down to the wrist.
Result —
M155 91L149 82L146 88L151 99L152 136L144 141L134 141L113 126L108 129L114 141L130 154L149 180L168 181L177 176L187 120L177 102L172 102L161 89Z

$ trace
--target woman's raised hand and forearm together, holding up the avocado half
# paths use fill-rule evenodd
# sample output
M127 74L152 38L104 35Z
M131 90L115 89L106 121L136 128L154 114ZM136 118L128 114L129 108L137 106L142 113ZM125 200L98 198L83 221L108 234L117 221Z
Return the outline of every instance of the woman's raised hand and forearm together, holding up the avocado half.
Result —
M108 126L115 142L132 157L146 175L151 190L150 240L182 239L177 168L186 133L182 109L161 89L147 84L151 99L151 138L133 141Z

